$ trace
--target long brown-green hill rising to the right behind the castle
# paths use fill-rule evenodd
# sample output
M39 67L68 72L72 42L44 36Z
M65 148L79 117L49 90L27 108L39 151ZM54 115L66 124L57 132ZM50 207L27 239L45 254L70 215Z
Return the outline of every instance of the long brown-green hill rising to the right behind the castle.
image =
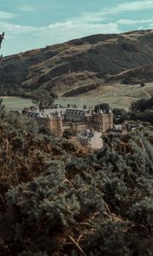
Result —
M153 82L153 30L99 34L3 58L0 95L40 88L77 96L107 84Z

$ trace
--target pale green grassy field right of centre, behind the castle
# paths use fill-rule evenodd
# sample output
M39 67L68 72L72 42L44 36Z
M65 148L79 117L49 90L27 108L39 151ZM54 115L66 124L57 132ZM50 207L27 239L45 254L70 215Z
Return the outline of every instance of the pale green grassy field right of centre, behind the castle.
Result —
M110 84L82 94L82 102L88 106L108 102L111 108L128 109L131 103L141 98L149 99L151 96L153 96L153 83L145 84L144 87L140 84Z

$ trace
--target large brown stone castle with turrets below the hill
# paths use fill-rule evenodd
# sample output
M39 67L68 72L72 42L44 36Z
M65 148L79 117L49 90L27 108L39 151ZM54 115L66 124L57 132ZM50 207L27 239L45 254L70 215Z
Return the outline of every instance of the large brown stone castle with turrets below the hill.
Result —
M57 137L61 136L65 129L82 133L87 129L105 132L113 127L111 108L107 111L99 109L97 112L90 109L59 107L40 112L38 108L33 108L24 110L23 114L35 119L38 125L48 127Z

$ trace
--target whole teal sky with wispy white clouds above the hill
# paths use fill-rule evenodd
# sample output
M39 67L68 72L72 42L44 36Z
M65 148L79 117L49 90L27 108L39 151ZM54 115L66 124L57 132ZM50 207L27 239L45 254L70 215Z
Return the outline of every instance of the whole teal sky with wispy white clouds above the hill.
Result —
M0 54L97 33L153 29L153 0L0 0Z

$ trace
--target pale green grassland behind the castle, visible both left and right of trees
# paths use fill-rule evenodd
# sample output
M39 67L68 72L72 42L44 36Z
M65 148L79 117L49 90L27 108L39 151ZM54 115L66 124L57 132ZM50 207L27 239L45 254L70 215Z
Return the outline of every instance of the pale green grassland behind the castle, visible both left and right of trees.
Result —
M139 84L110 84L103 85L96 90L90 90L82 94L82 96L59 97L55 103L63 107L67 107L70 104L76 105L77 108L83 108L83 105L94 107L96 104L108 102L111 108L128 109L132 102L140 98L149 99L151 96L153 96L153 83L145 84L144 87L140 87ZM21 111L23 108L32 105L30 99L15 96L3 97L3 102L8 110Z

